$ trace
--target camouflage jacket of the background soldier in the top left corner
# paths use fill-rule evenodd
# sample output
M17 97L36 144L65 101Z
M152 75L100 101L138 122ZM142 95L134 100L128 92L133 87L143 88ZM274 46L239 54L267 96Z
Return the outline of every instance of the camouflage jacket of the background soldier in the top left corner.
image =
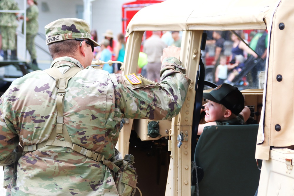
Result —
M0 10L19 10L19 7L14 0L1 0ZM0 26L17 27L15 13L0 13Z

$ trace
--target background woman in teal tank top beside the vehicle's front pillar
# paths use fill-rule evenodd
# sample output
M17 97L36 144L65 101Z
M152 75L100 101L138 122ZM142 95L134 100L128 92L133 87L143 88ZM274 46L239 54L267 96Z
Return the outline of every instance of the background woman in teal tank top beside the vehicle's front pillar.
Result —
M125 36L122 33L117 35L117 43L114 48L115 60L123 62L125 58L125 51L126 51L126 41ZM121 63L117 63L117 71L116 73L121 73Z

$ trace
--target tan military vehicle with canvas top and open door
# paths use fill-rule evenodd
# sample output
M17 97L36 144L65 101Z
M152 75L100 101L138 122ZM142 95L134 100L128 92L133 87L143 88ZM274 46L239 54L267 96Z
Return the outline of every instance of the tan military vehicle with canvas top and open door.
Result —
M198 185L192 187L192 195L254 195L258 187L259 196L293 195L293 21L292 0L166 0L133 17L126 29L124 75L137 73L145 31L182 31L180 58L191 78L181 113L172 120L124 119L116 148L123 155L135 156L142 195L191 195L192 183ZM242 90L245 105L252 111L247 125L215 127L213 134L220 135L201 135L198 140L203 85L209 84L201 63L206 43L203 32L257 29L268 32L265 77L260 77L259 89L233 84ZM250 77L253 63L245 66L242 77ZM230 134L223 136L226 128ZM204 150L197 150L201 147ZM191 180L194 159L204 169L198 183Z

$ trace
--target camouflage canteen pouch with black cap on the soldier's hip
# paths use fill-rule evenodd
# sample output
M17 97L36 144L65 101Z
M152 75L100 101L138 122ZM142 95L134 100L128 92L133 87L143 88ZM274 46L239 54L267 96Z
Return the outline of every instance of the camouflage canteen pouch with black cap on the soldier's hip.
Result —
M125 160L122 160L122 163L118 167L120 168L119 171L114 174L118 194L120 196L135 195L137 185L136 168Z

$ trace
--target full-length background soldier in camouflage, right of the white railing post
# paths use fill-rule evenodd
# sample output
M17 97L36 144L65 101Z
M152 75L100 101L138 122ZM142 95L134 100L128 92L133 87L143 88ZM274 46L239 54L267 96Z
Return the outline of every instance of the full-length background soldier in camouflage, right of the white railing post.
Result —
M37 0L27 0L29 7L26 9L26 49L31 55L31 69L36 71L40 70L37 63L37 52L35 46L35 37L39 30L38 16L39 9L37 7ZM19 19L24 19L21 15ZM22 26L22 31L24 32L24 24Z

